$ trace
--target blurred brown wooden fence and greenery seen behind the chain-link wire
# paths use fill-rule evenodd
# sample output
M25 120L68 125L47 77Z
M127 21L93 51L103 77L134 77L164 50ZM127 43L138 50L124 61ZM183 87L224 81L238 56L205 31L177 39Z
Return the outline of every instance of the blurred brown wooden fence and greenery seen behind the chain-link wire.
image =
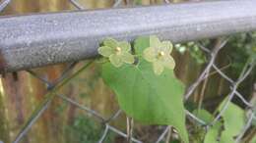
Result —
M114 0L78 0L86 9L111 8ZM173 3L185 2L181 0L171 1ZM122 2L125 5L154 5L164 3L162 0L141 0ZM73 11L76 7L68 0L13 0L10 5L0 13L6 15L24 15L32 13L49 13ZM254 47L254 33L243 33L232 35L222 52L218 55L216 64L236 79L245 65L251 47ZM202 41L182 43L175 45L172 55L176 61L176 76L186 85L196 80L206 66L209 57L200 46L212 49L218 42L217 39L206 39ZM248 48L244 48L244 47ZM246 49L246 50L244 50ZM73 71L77 71L85 62L80 62ZM54 81L65 70L68 64L49 66L34 69L38 75L49 81ZM90 107L106 119L118 111L115 96L100 78L100 68L93 65L90 70L83 71L74 80L70 81L65 88L58 91L80 104ZM239 86L239 91L247 101L256 96L253 90L256 86L256 72L250 75ZM0 140L4 143L13 141L21 130L22 125L29 119L32 111L42 101L47 92L47 86L27 71L7 73L0 81ZM207 80L197 88L189 102L187 109L193 109L198 104L210 112L213 112L219 103L229 92L229 83L215 71L210 72ZM202 97L203 95L203 97ZM169 101L171 103L171 101ZM245 106L235 98L233 102L242 108ZM121 113L117 119L110 122L111 125L126 130L126 116ZM134 136L144 142L156 141L162 131L162 126L142 125L135 122ZM86 115L73 105L56 98L49 105L23 138L23 143L94 143L97 142L104 125L93 116ZM254 130L255 131L255 130ZM122 143L125 139L116 133L108 133L106 143Z

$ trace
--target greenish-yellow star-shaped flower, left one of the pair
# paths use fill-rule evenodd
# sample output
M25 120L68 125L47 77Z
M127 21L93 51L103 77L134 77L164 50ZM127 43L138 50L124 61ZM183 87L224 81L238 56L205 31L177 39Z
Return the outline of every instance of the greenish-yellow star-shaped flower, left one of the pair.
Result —
M115 39L107 38L97 52L109 58L110 63L116 68L121 67L124 63L134 63L134 56L130 53L131 45L125 41L118 42Z

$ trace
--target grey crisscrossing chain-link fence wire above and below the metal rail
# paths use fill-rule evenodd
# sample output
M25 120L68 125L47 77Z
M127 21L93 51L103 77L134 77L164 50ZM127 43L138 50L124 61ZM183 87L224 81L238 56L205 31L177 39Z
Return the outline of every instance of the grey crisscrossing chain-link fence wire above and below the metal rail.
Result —
M0 2L0 12L2 12L8 6L8 4L10 2L11 2L11 0L2 0ZM126 2L127 2L127 0L126 0ZM163 2L166 4L171 3L169 0L163 0ZM70 3L78 10L87 9L84 5L81 5L76 0L70 0ZM122 5L123 5L123 0L115 0L112 7L113 8L119 7ZM229 94L227 95L227 100L225 101L224 107L221 110L221 112L219 112L219 114L216 116L216 118L213 119L213 121L210 123L205 122L202 119L198 119L196 116L194 116L188 110L186 110L186 116L187 116L187 119L189 119L191 121L196 121L198 124L205 126L206 129L209 129L213 124L215 124L218 120L221 119L224 112L228 108L228 105L230 104L231 100L234 97L237 97L247 107L247 109L249 111L248 115L247 115L248 119L246 121L245 126L243 127L240 134L235 138L235 142L238 143L241 141L243 135L246 133L246 131L252 125L252 120L256 119L256 115L252 112L253 105L250 102L248 102L241 93L239 93L237 88L238 88L239 84L242 81L244 81L245 78L251 73L251 71L253 70L255 65L253 65L253 63L248 63L247 65L245 65L245 67L243 68L243 71L240 73L239 77L236 80L231 79L227 74L225 74L224 71L222 71L222 69L219 68L215 64L215 61L217 59L218 54L220 53L222 48L224 48L224 45L226 44L227 41L228 41L228 38L220 38L219 42L216 43L213 50L209 50L209 48L206 48L202 44L197 43L199 45L199 47L205 53L207 53L207 55L210 58L209 58L209 62L207 64L206 68L201 72L201 74L193 82L193 84L191 84L191 86L187 89L187 92L184 95L184 100L186 101L194 93L194 91L199 87L199 85L206 80L206 78L210 75L210 71L214 70L215 72L217 72L221 77L223 77L230 84L230 86L229 86L230 91L229 91ZM104 142L104 140L107 137L107 134L109 134L109 132L114 132L117 135L120 135L120 136L126 138L128 141L130 140L131 142L142 143L143 141L133 137L133 134L132 134L132 130L133 130L133 126L134 126L133 119L127 118L127 132L123 132L122 130L110 125L111 121L113 121L114 119L117 119L120 116L120 114L122 113L121 110L117 110L115 112L115 114L113 114L111 117L106 119L103 116L101 116L99 113L97 113L96 111L90 109L89 107L87 107L85 105L80 104L78 101L75 101L72 98L69 98L67 95L58 94L56 92L60 87L62 87L66 83L68 83L69 79L76 76L81 71L85 70L85 68L88 68L92 64L92 62L88 62L88 64L85 67L81 68L78 71L73 72L74 68L76 67L77 64L78 64L77 62L71 63L66 68L66 70L64 70L62 72L62 74L53 82L48 81L47 78L45 78L41 75L38 75L36 72L34 72L32 70L27 70L29 73L32 74L32 76L36 77L38 80L42 81L43 83L45 83L47 85L48 92L44 96L45 98L39 104L38 108L32 112L31 118L29 120L27 120L27 123L20 130L20 132L16 136L13 143L19 143L27 135L28 131L32 128L32 125L35 123L35 121L37 119L39 119L41 117L41 115L44 113L44 111L49 107L49 105L51 104L51 101L53 100L53 97L56 97L56 98L62 99L63 101L68 102L70 105L73 105L76 108L84 111L86 115L91 115L91 116L95 117L98 122L100 122L101 124L104 125L104 130L102 130L101 136L100 136L100 138L98 138L98 141L97 141L98 143ZM171 126L165 126L161 130L162 130L162 132L160 133L159 138L156 140L156 143L160 143L161 141L168 140L167 134L169 131L173 131L173 128ZM0 141L0 143L2 143L2 142Z

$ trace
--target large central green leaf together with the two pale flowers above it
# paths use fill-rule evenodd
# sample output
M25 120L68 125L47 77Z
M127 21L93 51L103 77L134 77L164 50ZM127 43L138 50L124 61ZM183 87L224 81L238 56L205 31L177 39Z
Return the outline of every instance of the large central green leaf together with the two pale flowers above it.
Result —
M184 85L173 73L171 50L171 42L149 36L137 38L133 46L107 38L98 53L108 61L102 64L102 78L121 109L143 123L172 125L188 143Z

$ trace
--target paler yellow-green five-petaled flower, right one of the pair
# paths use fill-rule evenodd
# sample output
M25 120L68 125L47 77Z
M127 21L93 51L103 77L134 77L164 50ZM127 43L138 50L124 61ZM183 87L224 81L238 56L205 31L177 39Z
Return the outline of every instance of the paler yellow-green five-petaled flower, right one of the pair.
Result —
M171 50L171 42L160 42L157 36L151 36L150 47L144 50L143 57L146 61L153 63L154 72L160 74L164 68L173 70L175 67L175 62L170 56Z

